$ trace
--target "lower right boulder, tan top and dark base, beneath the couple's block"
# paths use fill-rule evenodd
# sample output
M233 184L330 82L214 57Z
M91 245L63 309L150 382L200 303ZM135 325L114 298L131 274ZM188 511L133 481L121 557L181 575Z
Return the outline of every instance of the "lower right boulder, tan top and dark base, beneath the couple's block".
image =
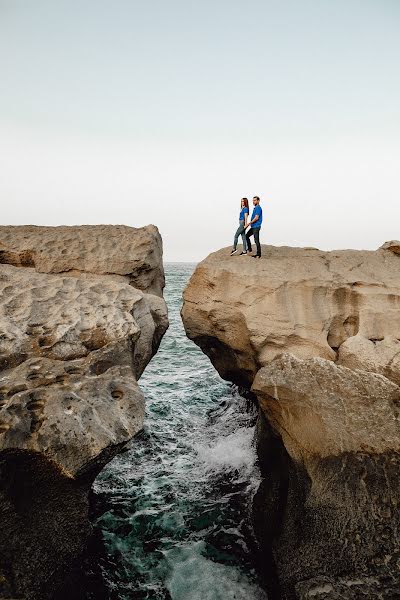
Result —
M274 541L283 586L350 566L353 579L386 577L394 586L400 388L382 375L284 354L260 369L252 390L292 461L290 511Z

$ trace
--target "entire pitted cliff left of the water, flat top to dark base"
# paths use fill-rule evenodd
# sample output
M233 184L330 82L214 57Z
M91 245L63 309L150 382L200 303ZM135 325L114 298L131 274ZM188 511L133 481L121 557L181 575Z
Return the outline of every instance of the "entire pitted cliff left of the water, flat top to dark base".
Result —
M83 550L91 483L143 424L163 287L153 226L0 227L1 597L52 597Z

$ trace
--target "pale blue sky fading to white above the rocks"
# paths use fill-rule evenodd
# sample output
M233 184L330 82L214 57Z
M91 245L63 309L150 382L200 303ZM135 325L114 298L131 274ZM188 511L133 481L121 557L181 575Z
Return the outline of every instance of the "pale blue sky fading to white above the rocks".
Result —
M0 223L400 238L398 0L0 0Z

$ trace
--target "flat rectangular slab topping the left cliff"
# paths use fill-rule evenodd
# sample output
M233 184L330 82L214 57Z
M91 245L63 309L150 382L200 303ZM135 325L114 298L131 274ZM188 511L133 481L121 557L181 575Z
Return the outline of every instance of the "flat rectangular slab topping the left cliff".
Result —
M136 288L162 295L162 241L154 225L79 227L0 226L0 263L39 273L124 276Z

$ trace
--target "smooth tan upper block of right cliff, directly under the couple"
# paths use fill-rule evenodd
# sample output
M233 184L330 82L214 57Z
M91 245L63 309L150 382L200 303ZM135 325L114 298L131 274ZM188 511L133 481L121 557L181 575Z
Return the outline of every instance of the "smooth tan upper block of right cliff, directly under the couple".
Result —
M224 249L201 262L182 317L222 377L250 384L282 352L335 361L353 336L400 339L399 307L394 254L264 246L260 261Z

